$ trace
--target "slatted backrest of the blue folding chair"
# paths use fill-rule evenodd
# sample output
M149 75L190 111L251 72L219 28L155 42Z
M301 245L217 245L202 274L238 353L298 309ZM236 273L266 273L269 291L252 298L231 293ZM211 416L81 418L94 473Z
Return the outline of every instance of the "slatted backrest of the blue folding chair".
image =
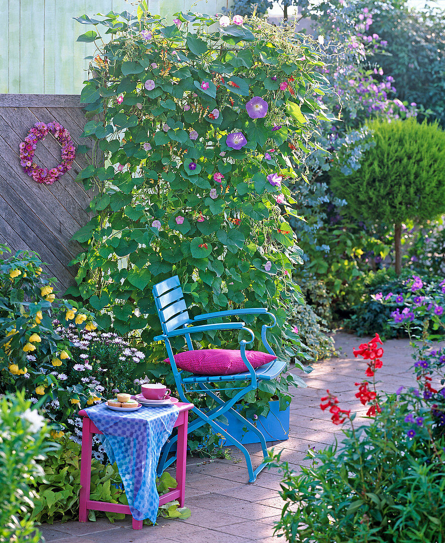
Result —
M187 305L177 275L157 283L153 287L153 295L164 334L190 323Z

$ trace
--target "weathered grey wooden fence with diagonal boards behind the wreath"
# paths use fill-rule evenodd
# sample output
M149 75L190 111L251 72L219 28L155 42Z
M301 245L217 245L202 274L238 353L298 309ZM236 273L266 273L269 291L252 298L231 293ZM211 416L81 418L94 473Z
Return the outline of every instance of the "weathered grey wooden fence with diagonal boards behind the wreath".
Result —
M75 285L77 270L68 263L81 250L71 238L92 217L86 211L92 192L74 181L91 157L77 154L71 171L53 185L36 183L20 166L19 145L38 121L58 121L76 147L91 147L91 140L80 137L86 119L79 96L0 94L0 242L13 251L39 253L63 293ZM61 162L60 149L48 134L37 143L34 160L41 167L55 167Z

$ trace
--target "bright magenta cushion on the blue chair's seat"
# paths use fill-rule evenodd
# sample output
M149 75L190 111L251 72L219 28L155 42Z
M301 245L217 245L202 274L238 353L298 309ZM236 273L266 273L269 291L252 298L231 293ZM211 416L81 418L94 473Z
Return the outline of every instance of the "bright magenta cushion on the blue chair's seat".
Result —
M174 356L176 365L181 370L200 375L234 375L249 371L241 358L240 351L227 349L199 349L198 351L180 352ZM259 368L277 357L267 352L246 351L246 358L253 368ZM169 363L167 358L164 362Z

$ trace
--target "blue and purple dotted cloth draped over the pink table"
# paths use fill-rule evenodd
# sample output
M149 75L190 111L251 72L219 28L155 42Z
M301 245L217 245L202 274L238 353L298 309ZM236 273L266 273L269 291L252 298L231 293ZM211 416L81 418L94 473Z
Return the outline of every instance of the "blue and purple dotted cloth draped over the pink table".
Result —
M99 403L85 411L104 434L104 449L110 462L117 463L133 518L155 523L159 508L156 467L179 408L142 406L125 413Z

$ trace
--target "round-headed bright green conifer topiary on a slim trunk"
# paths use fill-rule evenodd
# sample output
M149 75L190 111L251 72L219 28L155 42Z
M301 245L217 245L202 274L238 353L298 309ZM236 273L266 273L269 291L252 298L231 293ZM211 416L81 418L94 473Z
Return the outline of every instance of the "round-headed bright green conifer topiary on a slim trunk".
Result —
M396 273L402 267L402 223L445 213L445 132L437 123L371 121L374 146L350 175L333 169L332 190L359 220L394 224Z

